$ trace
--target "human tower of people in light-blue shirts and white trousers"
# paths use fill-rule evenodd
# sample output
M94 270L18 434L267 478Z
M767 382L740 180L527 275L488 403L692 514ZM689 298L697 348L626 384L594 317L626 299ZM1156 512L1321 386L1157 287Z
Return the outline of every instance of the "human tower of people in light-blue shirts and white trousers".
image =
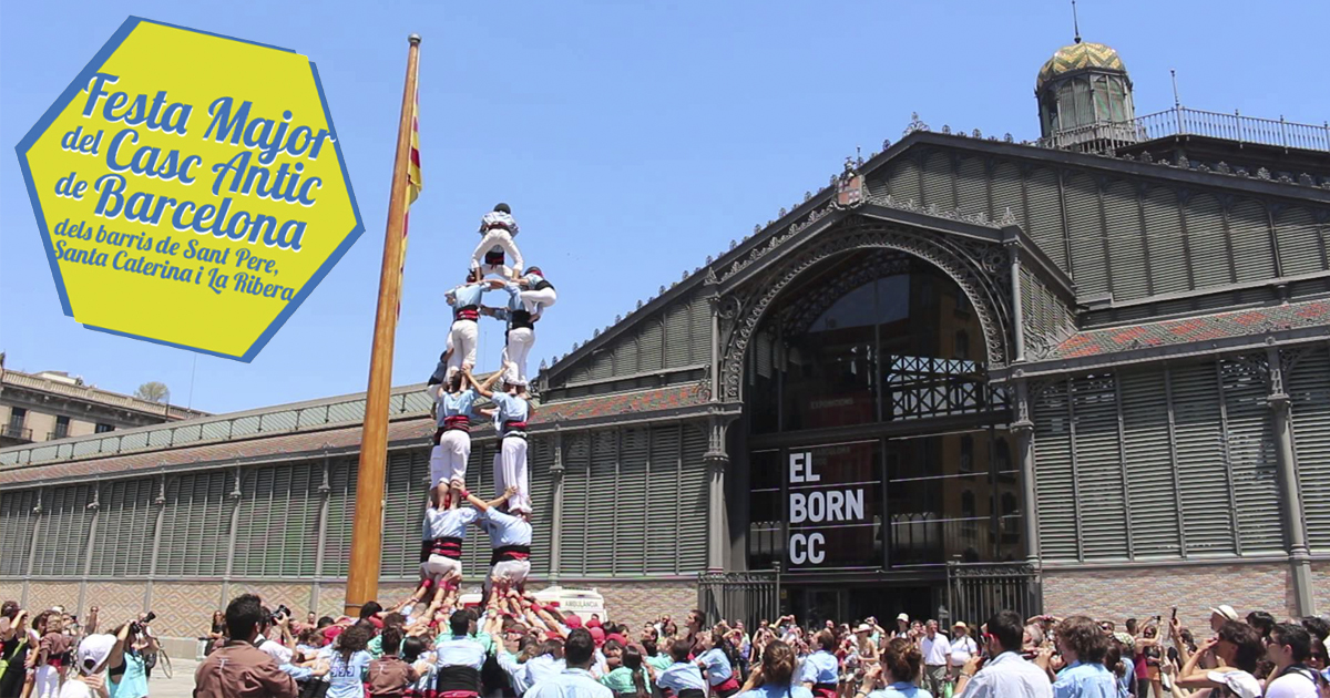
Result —
M462 544L472 524L489 534L493 546L481 604L488 601L496 585L521 590L531 572L527 419L533 407L527 356L536 342L536 322L555 304L556 295L539 267L523 271L521 251L513 242L517 221L507 203L499 203L481 217L480 235L466 281L447 292L452 326L447 348L430 376L436 428L420 545L420 586L415 596L420 601L431 596L438 598L460 584ZM507 263L509 257L512 266ZM491 292L505 294L504 302L483 304L485 294ZM503 368L483 382L472 375L481 316L495 318L507 327ZM479 407L481 398L493 407ZM477 419L493 421L501 444L493 460L496 497L489 501L466 488L471 425Z

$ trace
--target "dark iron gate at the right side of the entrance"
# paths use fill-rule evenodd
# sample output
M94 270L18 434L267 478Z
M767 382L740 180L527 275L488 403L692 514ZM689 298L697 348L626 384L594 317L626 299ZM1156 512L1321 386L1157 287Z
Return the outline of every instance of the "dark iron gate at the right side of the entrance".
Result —
M1024 562L948 562L947 606L952 618L967 624L987 622L999 610L1037 616L1044 612L1039 572Z

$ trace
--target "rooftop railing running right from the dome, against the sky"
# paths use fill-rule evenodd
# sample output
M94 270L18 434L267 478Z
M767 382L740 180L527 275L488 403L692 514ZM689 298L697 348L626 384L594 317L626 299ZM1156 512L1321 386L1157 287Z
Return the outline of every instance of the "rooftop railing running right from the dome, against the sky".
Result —
M1174 106L1130 121L1108 121L1060 130L1037 145L1080 152L1117 149L1173 136L1204 136L1240 144L1330 152L1330 122L1298 124L1283 117L1258 118Z

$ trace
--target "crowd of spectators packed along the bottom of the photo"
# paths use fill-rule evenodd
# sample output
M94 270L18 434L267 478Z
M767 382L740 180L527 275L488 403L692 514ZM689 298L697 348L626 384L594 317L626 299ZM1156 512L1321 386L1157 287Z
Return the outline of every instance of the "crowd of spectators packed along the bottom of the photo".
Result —
M439 585L358 617L295 620L253 594L213 617L200 698L1330 698L1319 617L1212 609L1176 618L1020 618L950 629L900 614L810 628L794 616L706 624L692 612L632 629L516 589L485 608ZM150 617L148 618L150 621ZM0 613L0 698L148 695L144 617L97 633L61 609Z

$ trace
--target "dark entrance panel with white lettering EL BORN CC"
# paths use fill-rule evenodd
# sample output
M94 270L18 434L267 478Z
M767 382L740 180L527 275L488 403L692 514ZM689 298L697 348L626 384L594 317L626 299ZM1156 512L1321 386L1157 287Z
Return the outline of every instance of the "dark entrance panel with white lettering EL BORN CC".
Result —
M791 570L882 566L880 443L786 455Z

